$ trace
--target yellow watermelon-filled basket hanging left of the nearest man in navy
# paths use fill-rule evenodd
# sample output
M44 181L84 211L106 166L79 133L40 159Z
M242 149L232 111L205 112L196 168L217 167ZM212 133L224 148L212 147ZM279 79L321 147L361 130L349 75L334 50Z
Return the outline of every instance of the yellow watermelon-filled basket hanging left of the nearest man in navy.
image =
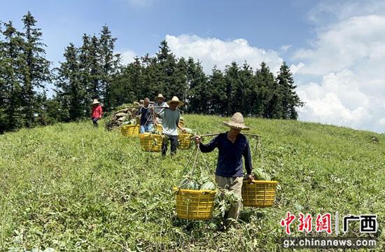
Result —
M213 218L213 190L186 190L174 188L176 199L176 216L188 220L209 220Z

